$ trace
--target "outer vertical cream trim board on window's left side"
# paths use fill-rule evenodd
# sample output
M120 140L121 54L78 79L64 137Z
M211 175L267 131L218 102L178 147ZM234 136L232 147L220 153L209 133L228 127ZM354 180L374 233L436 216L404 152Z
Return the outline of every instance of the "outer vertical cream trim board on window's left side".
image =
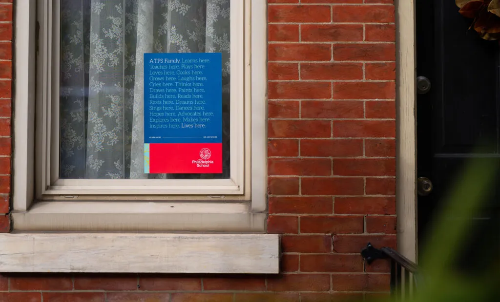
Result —
M15 104L13 105L13 206L27 210L34 186L34 110L35 106L35 14L34 1L16 2L15 8ZM18 21L22 20L22 21Z

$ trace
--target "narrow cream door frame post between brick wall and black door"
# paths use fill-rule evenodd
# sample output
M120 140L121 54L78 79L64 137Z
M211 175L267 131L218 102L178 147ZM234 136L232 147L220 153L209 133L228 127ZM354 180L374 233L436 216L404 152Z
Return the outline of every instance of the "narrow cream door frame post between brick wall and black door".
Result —
M417 262L415 0L394 2L397 249Z

